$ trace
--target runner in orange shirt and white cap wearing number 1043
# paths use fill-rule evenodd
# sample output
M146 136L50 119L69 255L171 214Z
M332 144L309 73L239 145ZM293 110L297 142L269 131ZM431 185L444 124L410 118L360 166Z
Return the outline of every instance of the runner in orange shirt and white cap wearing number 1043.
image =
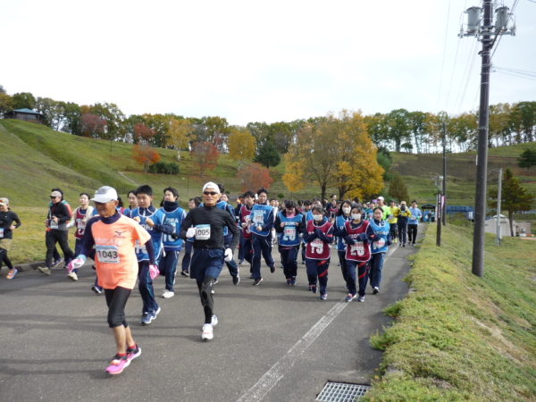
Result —
M108 325L112 328L117 347L117 353L105 372L119 374L141 354L125 321L125 306L138 272L135 244L147 247L152 275L158 274L158 268L147 230L115 209L118 205L115 189L108 186L97 189L92 201L99 216L88 222L80 255L69 265L69 270L80 268L86 261L86 255L96 247L96 272L99 285L105 289Z

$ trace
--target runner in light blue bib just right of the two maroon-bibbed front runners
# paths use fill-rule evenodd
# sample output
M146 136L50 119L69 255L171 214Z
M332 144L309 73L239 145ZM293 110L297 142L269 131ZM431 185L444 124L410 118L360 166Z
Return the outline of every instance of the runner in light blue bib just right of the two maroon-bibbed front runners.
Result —
M381 268L383 267L383 259L389 246L389 223L383 220L383 209L381 206L374 208L374 219L369 223L373 230L369 275L373 295L376 295L380 292Z

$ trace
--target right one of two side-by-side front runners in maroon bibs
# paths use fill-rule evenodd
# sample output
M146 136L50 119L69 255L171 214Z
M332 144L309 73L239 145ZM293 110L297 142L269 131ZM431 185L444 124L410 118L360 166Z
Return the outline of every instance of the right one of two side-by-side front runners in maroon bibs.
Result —
M350 302L357 296L356 291L356 268L357 282L359 283L359 297L357 301L364 302L364 292L368 281L369 264L371 259L370 242L373 238L373 230L369 222L363 220L363 207L361 204L353 204L351 220L344 223L341 237L348 244L346 249L347 286Z

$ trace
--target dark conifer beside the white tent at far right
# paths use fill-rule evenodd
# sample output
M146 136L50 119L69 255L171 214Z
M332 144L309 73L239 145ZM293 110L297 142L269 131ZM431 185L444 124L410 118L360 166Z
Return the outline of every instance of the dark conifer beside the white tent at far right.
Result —
M488 206L495 208L497 206L498 190L495 188L490 189L489 196L491 200L488 201ZM519 180L514 177L514 172L507 168L503 174L500 198L501 209L508 213L510 234L514 237L514 213L517 211L530 211L536 197L531 193L527 193L527 190L519 185ZM497 211L497 215L500 215L500 211Z

